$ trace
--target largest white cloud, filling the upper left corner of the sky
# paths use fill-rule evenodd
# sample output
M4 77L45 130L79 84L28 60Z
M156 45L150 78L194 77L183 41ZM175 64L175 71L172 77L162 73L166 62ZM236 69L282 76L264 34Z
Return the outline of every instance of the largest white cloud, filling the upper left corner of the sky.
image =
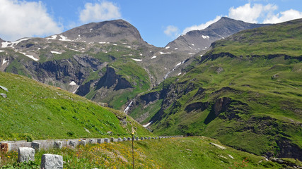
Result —
M0 37L14 41L62 32L41 1L0 0Z

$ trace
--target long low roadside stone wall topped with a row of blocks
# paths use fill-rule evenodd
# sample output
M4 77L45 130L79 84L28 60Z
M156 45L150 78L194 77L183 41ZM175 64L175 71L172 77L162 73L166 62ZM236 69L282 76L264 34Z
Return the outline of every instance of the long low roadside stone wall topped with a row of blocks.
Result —
M173 137L183 137L183 136L160 136L160 137L134 137L134 141L140 141L144 139L165 139ZM31 147L38 151L39 149L53 149L62 147L73 148L79 144L103 144L109 142L127 142L132 141L130 137L119 137L119 138L91 138L91 139L47 139L47 140L33 140L33 142L26 142L25 140L21 141L3 141L0 142L1 151L18 151L19 147Z

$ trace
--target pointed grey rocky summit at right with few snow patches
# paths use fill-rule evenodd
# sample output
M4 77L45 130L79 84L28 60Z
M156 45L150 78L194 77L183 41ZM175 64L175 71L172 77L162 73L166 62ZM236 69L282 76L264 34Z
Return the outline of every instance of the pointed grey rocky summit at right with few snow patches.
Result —
M199 51L207 51L212 42L224 39L241 30L262 27L269 24L245 23L240 20L222 17L216 23L209 25L204 30L192 30L168 43L165 47L178 49L196 54Z

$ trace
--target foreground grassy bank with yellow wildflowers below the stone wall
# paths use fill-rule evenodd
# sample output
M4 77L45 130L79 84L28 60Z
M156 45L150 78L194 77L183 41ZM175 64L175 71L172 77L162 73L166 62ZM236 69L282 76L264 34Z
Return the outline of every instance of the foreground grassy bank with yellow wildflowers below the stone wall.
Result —
M290 168L294 165L302 165L299 161L286 158L282 160L288 165L281 165L228 146L224 150L219 149L210 142L221 145L220 142L207 137L134 142L134 168ZM37 168L42 154L45 153L62 155L63 160L66 161L64 168L132 168L132 142L87 145L81 146L80 149L39 151L35 154L34 165ZM80 157L77 158L79 155ZM6 167L17 165L13 164L16 158L17 155L14 153L2 155L1 164Z

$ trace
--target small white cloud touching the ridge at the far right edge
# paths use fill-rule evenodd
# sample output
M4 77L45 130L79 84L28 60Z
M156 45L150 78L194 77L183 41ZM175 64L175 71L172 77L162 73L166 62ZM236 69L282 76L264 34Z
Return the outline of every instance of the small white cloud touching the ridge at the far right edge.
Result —
M289 20L294 20L302 18L302 12L290 9L288 11L283 11L277 13L277 15L269 15L263 23L283 23Z

